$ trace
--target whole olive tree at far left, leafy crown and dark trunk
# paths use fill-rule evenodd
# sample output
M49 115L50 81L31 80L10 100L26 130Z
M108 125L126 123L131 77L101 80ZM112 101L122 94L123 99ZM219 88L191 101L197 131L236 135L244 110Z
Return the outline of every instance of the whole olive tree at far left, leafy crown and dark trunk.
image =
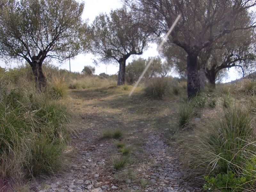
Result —
M87 30L83 10L75 0L6 0L0 8L0 55L25 59L43 89L44 60L62 61L81 51L79 39Z

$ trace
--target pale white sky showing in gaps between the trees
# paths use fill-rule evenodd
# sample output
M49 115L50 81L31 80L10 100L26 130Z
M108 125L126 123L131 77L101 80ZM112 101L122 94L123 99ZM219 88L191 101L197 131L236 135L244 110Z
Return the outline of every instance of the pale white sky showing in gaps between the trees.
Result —
M88 20L88 24L91 24L94 18L101 12L103 13L109 13L111 9L120 8L122 6L121 0L84 0L85 6L84 6L84 13L83 13L83 19ZM144 53L140 56L131 56L128 60L128 62L131 62L132 59L139 58L145 58L156 56L158 52L156 51L157 45L152 44L149 46L148 50L144 51ZM85 65L91 65L95 67L95 74L100 73L107 73L107 74L116 74L118 72L118 63L117 61L113 61L111 64L105 65L105 64L99 64L98 66L95 66L93 64L93 55L92 54L79 54L76 56L76 58L70 60L70 66L71 71L74 72L81 72ZM58 66L62 69L68 69L69 70L69 60L64 61L63 63L58 63L56 61L53 61L53 64ZM9 62L7 65L3 61L0 60L0 66L2 68L13 68L17 66L17 63L15 62ZM242 75L237 74L234 69L229 70L229 78L223 79L224 82L229 82L232 80L236 80L237 78L241 78Z

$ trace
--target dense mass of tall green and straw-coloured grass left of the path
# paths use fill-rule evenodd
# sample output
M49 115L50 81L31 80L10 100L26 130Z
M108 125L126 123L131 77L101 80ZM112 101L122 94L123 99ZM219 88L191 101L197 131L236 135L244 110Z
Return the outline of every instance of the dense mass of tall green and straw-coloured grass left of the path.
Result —
M72 131L71 116L47 92L0 81L0 178L19 183L28 174L56 173Z

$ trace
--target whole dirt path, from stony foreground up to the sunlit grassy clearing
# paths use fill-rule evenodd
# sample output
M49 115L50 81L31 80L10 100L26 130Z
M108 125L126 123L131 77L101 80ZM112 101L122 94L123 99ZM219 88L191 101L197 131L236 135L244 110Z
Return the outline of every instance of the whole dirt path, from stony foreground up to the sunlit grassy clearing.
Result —
M172 115L172 103L142 102L129 99L124 92L75 91L70 95L68 102L78 114L78 133L66 153L72 163L61 176L35 182L34 191L199 191L181 179L184 173L173 157L175 149L159 131L159 127L171 131L167 117ZM100 139L104 131L116 129L124 132L119 141L132 148L129 162L118 171L113 161L123 157L117 140Z

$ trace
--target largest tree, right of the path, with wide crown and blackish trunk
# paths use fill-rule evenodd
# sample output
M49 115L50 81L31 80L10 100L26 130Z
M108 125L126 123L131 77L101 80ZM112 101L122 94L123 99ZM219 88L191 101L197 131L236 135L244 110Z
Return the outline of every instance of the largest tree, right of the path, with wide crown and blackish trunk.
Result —
M255 0L126 0L147 15L148 27L158 36L166 33L181 14L169 36L187 53L188 97L200 92L197 57L201 50L234 31L255 27ZM157 25L155 25L157 23ZM154 27L157 26L157 27Z

